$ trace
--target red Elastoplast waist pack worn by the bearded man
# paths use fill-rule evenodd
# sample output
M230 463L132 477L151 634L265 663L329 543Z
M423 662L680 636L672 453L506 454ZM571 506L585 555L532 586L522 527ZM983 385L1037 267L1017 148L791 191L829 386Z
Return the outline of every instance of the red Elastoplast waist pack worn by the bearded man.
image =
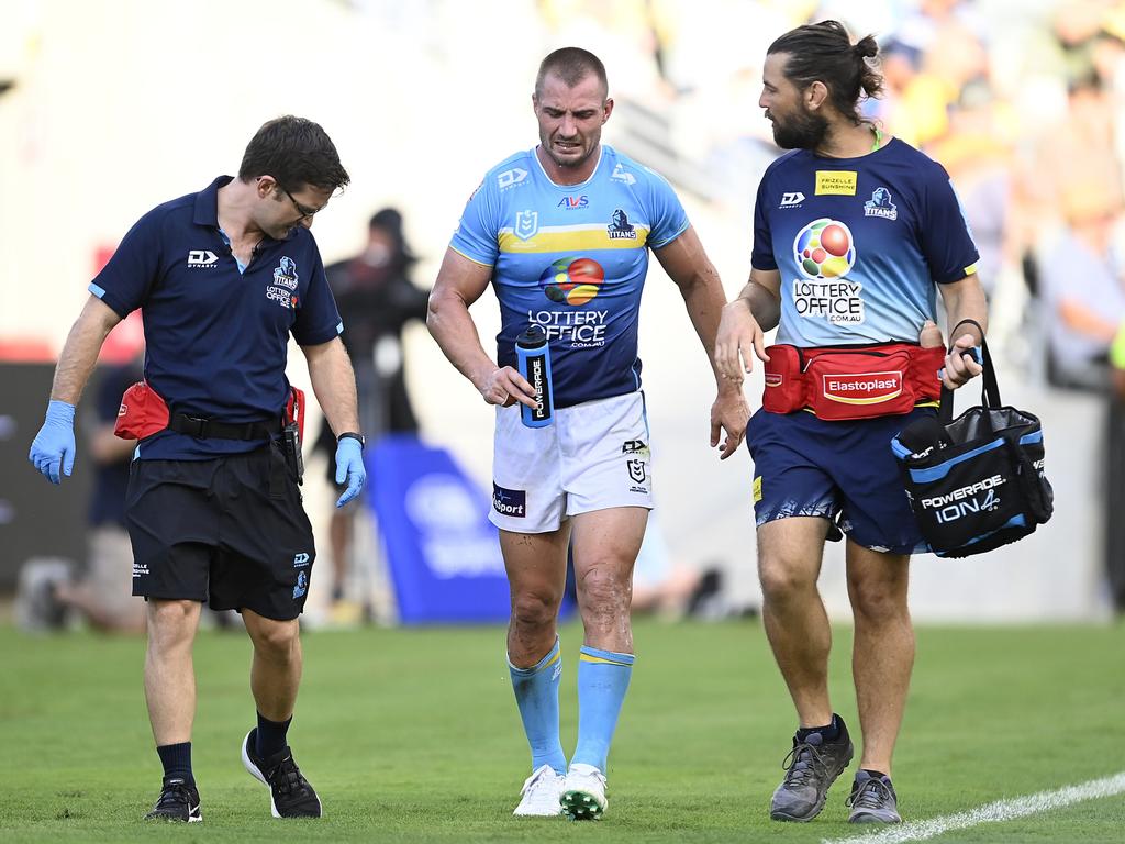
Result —
M937 401L937 371L945 349L911 343L801 349L766 349L762 406L771 413L811 410L818 419L850 420L909 413L919 402Z

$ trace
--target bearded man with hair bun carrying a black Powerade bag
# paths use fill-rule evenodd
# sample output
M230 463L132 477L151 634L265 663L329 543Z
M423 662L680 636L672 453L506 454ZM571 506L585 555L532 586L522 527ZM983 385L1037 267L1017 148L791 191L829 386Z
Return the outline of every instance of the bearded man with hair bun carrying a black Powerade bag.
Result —
M834 20L793 29L767 52L758 106L777 145L792 152L762 180L750 280L723 308L717 360L727 378L749 371L753 356L771 361L763 332L775 326L777 342L804 349L803 356L904 347L911 360L933 361L937 356L925 350L943 345L937 290L953 338L943 383L955 389L981 371L968 357L987 326L979 254L948 174L857 111L862 97L880 91L876 55L874 38L853 45ZM773 377L780 389L791 375L784 349L771 351L777 360L767 366L766 383ZM839 366L870 375L873 365L860 357L854 369ZM848 820L901 820L891 757L915 655L909 560L926 546L890 442L911 421L936 414L937 378L930 380L928 365L917 366L919 381L932 386L916 394L912 407L883 410L865 393L843 419L775 405L758 410L747 428L763 618L799 718L785 778L771 800L775 820L814 818L853 757L847 726L829 699L831 628L817 589L825 541L842 533L863 735ZM865 413L855 410L861 405Z

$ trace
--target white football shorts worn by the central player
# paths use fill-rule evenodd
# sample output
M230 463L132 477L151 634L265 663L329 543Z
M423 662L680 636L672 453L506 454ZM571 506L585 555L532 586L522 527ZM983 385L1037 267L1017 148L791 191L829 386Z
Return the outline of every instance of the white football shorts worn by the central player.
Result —
M547 533L579 513L652 509L642 393L556 408L543 428L524 425L520 406L496 408L493 524Z

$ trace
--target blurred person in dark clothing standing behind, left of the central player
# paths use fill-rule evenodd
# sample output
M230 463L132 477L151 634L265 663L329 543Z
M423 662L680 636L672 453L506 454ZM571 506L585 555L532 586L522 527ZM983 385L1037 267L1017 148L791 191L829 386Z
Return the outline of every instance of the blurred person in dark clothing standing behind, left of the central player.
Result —
M430 295L411 280L411 269L416 262L403 234L402 214L395 208L382 208L368 223L367 248L354 258L325 268L344 323L341 339L356 368L360 424L369 443L385 433L418 431L406 390L403 356L403 329L412 320L425 320ZM325 457L335 452L336 438L327 420L314 448ZM335 481L331 459L327 473L331 484ZM335 508L328 524L332 603L338 609L344 599L359 503L357 500Z

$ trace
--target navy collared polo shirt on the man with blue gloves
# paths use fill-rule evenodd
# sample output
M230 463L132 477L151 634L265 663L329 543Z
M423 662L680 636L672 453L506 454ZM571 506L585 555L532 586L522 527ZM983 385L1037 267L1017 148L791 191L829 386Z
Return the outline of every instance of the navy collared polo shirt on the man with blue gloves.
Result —
M141 308L145 379L172 412L230 423L281 413L289 395L289 334L317 345L343 331L316 241L304 226L264 237L240 272L218 227L222 176L164 203L125 235L90 293L125 317ZM136 457L192 460L250 451L262 441L161 431Z

